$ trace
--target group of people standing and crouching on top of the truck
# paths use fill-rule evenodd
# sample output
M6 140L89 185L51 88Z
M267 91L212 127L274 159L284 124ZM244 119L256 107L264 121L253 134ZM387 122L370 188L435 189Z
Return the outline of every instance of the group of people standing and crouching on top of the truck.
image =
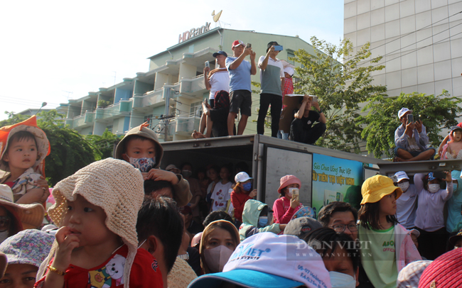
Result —
M209 101L203 101L203 115L199 131L193 138L242 135L247 119L252 113L252 88L250 77L260 70L261 94L257 119L257 133L264 134L267 112L271 106L271 135L300 143L314 144L326 131L326 116L316 97L305 95L294 97L283 105L284 96L294 95L294 66L277 58L283 49L276 41L267 45L267 54L259 57L255 64L252 45L235 40L232 56L225 51L213 53L215 69L205 65L205 88L210 90ZM249 56L249 60L245 58ZM287 96L289 95L289 96ZM312 107L316 109L313 110ZM235 128L235 119L240 120Z

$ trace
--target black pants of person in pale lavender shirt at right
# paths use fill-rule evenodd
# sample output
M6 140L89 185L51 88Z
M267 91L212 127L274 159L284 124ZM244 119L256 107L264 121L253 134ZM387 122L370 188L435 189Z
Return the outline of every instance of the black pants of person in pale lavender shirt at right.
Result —
M417 228L420 232L419 238L419 253L427 260L435 260L439 255L446 253L446 241L448 240L448 232L446 228L438 229L434 232L427 232Z

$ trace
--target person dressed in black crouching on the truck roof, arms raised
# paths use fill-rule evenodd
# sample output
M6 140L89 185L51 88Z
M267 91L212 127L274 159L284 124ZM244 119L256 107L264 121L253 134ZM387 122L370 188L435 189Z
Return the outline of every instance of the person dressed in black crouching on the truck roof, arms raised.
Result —
M311 144L316 143L326 131L326 116L318 102L313 102L311 96L303 96L299 111L294 114L294 121L291 123L290 138L292 141ZM317 111L311 110L314 106ZM314 122L318 122L313 125Z

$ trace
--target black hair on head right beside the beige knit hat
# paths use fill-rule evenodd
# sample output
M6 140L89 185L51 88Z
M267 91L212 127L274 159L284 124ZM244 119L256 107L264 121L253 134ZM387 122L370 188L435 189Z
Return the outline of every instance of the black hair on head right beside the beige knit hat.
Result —
M136 232L139 243L149 236L156 236L163 245L163 257L167 272L173 267L183 238L184 223L173 199L158 196L143 202L138 212Z

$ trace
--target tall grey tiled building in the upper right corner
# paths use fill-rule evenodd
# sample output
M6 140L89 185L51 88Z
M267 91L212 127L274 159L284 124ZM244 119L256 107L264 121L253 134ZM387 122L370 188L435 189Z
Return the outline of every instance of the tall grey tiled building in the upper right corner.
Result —
M462 0L345 0L344 37L384 56L373 74L388 95L462 96ZM368 63L367 63L368 65Z

